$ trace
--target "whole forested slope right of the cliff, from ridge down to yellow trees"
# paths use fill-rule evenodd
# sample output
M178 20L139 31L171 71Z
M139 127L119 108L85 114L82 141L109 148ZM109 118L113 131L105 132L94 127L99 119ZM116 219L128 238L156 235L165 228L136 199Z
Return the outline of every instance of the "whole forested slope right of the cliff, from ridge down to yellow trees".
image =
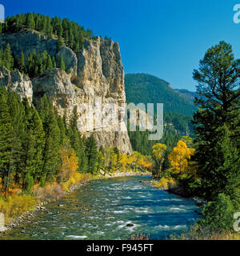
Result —
M182 136L194 137L191 119L196 108L190 97L191 92L174 90L170 83L150 74L126 74L125 88L127 102L164 104L163 138L159 141L149 141L148 131L129 132L134 150L151 154L151 148L157 142L172 148Z

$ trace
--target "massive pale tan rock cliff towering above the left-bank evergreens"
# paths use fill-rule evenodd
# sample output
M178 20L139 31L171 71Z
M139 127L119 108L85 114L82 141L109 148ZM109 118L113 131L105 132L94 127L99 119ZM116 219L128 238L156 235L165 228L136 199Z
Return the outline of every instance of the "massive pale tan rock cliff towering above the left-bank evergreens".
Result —
M0 86L16 91L21 98L37 102L44 94L53 99L59 114L70 117L74 106L78 109L78 130L89 136L94 132L98 145L117 146L122 153L132 153L130 139L126 131L115 129L116 123L107 126L98 120L94 113L94 122L99 125L91 130L88 125L89 110L82 109L83 103L95 107L96 102L121 104L126 102L124 89L124 70L117 42L96 38L86 40L77 54L64 46L57 51L57 39L47 39L44 35L25 30L18 34L0 34L0 48L9 42L15 56L21 51L30 54L33 50L42 53L46 50L56 58L62 54L67 73L60 69L30 80L18 71L0 70Z

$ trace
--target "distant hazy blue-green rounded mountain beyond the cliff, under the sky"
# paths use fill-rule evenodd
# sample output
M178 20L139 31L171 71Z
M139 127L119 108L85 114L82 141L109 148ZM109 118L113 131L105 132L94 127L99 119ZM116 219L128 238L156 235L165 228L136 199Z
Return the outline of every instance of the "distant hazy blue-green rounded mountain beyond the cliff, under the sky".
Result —
M189 98L182 97L170 84L150 74L126 74L126 101L138 104L163 103L164 112L194 114L195 106Z

